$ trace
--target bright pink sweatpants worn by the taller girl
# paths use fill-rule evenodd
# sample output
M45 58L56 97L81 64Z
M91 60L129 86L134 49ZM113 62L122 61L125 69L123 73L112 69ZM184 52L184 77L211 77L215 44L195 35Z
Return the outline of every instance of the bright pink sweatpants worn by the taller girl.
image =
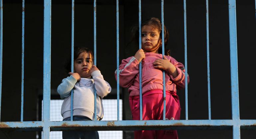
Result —
M163 90L152 90L142 96L142 119L163 120ZM129 97L133 120L140 120L140 96ZM179 120L181 107L176 93L166 91L166 120ZM168 118L168 119L167 119ZM134 131L134 139L178 139L176 130Z

